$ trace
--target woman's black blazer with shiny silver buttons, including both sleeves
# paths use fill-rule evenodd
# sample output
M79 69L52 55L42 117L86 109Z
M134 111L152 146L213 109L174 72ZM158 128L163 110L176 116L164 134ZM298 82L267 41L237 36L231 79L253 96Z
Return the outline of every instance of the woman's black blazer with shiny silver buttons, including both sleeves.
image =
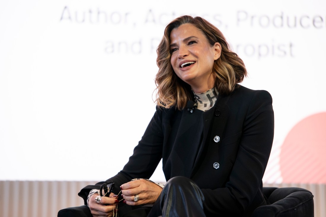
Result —
M206 112L157 108L128 163L108 180L120 186L133 178L150 178L163 158L166 180L181 175L198 184L207 216L250 216L266 204L262 177L273 136L271 95L237 85L231 94L219 94ZM79 195L85 200L95 187L87 186Z

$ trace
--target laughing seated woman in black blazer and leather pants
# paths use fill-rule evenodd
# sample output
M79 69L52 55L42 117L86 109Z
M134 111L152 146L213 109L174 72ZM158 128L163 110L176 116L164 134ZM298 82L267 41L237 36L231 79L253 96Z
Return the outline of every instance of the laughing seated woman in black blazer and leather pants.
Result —
M110 197L91 191L104 182L79 195L93 216L116 215L117 205L119 216L150 210L149 216L250 216L266 204L262 177L274 134L270 94L237 84L247 74L243 61L200 17L167 25L157 65L156 113L129 162L107 180L116 187ZM150 178L161 158L163 189L146 179L131 181Z

